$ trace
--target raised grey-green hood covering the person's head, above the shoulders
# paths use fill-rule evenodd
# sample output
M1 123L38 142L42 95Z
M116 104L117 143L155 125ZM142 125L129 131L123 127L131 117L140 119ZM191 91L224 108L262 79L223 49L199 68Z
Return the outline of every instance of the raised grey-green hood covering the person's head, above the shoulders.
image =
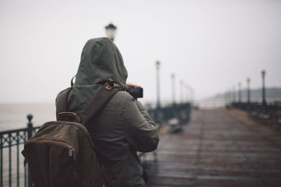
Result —
M87 41L81 54L77 85L103 84L111 78L126 89L127 76L122 55L115 43L108 38Z

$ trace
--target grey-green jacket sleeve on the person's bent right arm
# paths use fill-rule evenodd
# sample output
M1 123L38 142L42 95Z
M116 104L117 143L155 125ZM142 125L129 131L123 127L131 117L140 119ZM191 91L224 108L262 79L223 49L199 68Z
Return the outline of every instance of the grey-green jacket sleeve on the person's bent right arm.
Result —
M131 99L125 106L123 117L130 146L139 152L154 151L159 141L157 126L142 104Z

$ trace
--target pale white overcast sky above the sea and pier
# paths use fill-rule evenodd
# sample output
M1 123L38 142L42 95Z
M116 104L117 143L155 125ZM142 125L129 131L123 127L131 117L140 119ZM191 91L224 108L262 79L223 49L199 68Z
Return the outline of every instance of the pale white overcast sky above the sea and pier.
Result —
M53 102L77 72L88 39L117 25L128 81L171 101L171 74L196 99L251 78L252 88L281 86L281 1L0 1L0 102Z

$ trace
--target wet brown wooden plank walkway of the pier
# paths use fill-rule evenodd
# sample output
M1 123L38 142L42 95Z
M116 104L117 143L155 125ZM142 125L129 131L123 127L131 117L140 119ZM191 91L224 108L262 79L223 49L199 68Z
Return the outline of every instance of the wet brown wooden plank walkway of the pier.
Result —
M244 111L192 111L183 132L160 138L148 187L281 186L281 132Z

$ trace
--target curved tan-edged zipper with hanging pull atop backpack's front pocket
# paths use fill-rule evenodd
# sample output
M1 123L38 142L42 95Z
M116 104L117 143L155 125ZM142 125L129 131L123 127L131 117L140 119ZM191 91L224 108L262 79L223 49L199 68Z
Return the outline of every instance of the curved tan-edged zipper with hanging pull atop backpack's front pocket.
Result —
M73 157L73 160L76 160L76 151L70 144L67 144L63 141L55 141L55 140L50 140L50 139L30 139L27 141L27 144L49 144L49 145L57 145L57 146L63 146L68 149L68 156Z

